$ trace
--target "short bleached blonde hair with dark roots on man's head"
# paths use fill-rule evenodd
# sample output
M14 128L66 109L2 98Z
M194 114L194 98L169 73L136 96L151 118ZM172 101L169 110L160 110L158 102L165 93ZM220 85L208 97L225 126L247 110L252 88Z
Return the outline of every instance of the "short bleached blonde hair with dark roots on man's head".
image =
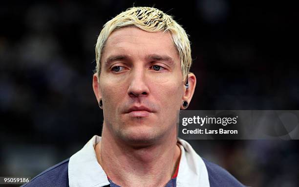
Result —
M109 35L116 29L136 26L147 32L169 31L180 56L183 79L186 80L192 64L191 47L185 30L171 16L153 7L131 7L108 21L98 37L95 47L96 73L101 73L101 55Z

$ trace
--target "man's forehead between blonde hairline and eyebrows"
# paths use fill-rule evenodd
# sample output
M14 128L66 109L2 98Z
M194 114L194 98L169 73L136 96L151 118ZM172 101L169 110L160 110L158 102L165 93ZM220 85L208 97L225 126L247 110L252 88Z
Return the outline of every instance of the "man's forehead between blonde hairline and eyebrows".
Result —
M143 54L148 59L179 59L170 32L147 32L137 27L124 27L113 31L103 49L103 57L126 54L130 50L144 50Z

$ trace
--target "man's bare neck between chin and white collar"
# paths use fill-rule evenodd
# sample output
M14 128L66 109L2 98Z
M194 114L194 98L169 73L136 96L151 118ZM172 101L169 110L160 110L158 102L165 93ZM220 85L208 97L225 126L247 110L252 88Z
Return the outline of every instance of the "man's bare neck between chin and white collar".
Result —
M102 133L96 147L98 163L107 176L122 187L164 187L174 174L180 158L176 132L167 140L149 146L132 147Z

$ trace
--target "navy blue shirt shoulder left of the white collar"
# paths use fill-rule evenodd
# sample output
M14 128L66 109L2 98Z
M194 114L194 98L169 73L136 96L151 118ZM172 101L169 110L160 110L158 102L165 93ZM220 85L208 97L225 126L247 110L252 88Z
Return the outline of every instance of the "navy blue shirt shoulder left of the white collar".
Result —
M68 161L56 164L21 187L68 187Z

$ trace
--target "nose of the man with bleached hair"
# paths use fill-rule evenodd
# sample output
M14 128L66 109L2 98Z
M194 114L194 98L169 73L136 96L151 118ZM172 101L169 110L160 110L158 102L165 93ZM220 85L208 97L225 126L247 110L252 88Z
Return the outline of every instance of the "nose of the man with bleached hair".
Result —
M143 70L132 72L128 87L128 95L130 97L143 97L149 95L149 87Z

